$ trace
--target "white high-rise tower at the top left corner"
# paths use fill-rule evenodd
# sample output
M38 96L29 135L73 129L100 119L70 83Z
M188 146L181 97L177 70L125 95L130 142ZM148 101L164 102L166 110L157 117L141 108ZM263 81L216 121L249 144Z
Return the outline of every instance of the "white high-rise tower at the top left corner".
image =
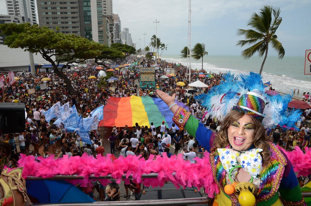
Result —
M25 22L37 24L35 0L6 0L7 14L22 16Z

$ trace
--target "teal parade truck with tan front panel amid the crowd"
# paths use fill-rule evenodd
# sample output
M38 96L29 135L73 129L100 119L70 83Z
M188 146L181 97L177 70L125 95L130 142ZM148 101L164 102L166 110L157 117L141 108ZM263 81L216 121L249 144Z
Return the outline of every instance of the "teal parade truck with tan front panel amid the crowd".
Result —
M156 74L154 67L141 67L139 73L140 88L155 88L156 87Z

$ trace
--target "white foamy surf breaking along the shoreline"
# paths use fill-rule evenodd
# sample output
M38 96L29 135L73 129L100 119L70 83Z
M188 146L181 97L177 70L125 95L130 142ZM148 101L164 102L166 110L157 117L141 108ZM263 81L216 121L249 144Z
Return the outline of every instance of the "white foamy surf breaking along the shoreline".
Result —
M176 62L176 63L181 63L185 66L187 66L187 59L176 59L176 58L162 58L168 62ZM202 63L191 63L191 68L193 70L195 69L200 69L202 67ZM240 73L246 73L250 72L247 70L238 70L238 69L231 69L231 68L220 68L217 67L214 64L209 64L209 63L204 63L203 62L203 69L207 72L214 72L214 73L225 73L227 71L231 71L232 73L235 74L240 74ZM299 96L302 96L303 92L311 92L310 89L310 82L304 81L304 80L299 80L290 77L289 75L282 74L282 75L277 75L277 74L272 74L272 73L266 73L262 72L262 81L265 82L271 82L272 87L276 91L280 91L283 93L287 94L292 94L292 90L300 91ZM297 92L296 92L297 96Z

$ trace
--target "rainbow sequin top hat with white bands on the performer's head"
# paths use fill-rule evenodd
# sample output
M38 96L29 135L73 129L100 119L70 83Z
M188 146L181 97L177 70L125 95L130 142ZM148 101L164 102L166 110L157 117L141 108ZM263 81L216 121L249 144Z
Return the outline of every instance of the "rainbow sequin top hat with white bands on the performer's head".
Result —
M266 100L262 95L248 91L246 94L241 95L238 103L234 104L232 110L243 112L256 119L263 119L265 117L263 114L265 106Z

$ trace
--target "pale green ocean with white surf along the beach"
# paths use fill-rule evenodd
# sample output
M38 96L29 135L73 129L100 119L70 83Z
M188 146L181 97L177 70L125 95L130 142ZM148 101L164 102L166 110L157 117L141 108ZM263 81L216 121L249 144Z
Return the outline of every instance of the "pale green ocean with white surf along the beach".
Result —
M187 59L181 59L179 55L162 55L161 59L168 62L187 65ZM207 72L225 73L231 71L239 74L243 72L259 72L263 57L253 56L245 60L239 55L207 55L203 58L203 69ZM202 59L191 59L192 69L201 69ZM311 75L304 75L304 56L285 56L278 59L277 56L268 56L262 70L263 83L271 82L276 91L302 97L303 92L311 92ZM299 94L297 91L299 90Z

